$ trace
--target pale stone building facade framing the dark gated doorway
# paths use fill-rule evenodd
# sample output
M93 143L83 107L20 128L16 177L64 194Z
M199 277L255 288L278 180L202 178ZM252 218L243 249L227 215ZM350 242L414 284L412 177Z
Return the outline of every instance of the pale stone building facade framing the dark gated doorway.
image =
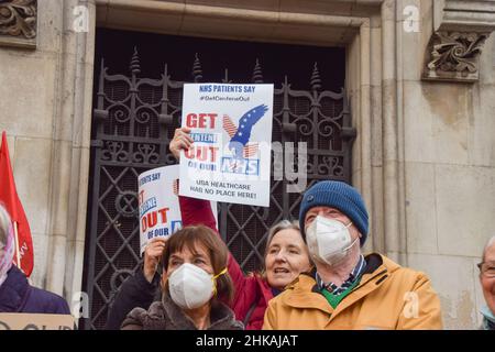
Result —
M495 0L0 1L0 130L32 282L68 301L84 272L98 28L345 47L366 251L426 272L447 328L479 326L476 263L495 234Z

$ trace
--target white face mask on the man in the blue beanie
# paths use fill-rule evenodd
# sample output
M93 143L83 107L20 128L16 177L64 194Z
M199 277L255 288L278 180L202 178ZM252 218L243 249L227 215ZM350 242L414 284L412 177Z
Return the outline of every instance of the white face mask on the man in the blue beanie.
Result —
M334 219L318 216L306 229L306 242L309 254L315 261L336 265L344 260L351 248L359 240L352 242L349 223L344 226ZM351 243L352 242L352 243Z

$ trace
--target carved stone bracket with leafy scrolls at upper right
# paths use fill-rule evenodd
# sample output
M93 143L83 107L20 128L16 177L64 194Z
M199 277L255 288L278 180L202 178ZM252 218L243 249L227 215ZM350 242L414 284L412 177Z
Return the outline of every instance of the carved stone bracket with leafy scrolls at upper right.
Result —
M433 11L424 79L477 81L480 55L495 30L495 0L436 0Z

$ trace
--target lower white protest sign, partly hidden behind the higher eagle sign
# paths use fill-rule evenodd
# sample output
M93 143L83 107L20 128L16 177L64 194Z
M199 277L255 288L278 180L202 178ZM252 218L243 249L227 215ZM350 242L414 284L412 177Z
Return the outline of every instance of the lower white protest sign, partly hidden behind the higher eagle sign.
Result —
M178 176L179 166L170 165L150 169L138 177L141 254L152 239L168 237L183 227L177 196ZM211 210L217 220L217 202L211 202Z

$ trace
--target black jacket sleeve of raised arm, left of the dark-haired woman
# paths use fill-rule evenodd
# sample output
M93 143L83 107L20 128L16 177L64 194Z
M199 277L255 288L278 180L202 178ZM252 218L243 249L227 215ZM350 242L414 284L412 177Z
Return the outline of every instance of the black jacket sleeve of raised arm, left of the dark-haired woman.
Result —
M128 277L119 288L118 294L109 308L107 330L119 330L122 321L134 308L147 310L155 300L161 300L160 275L155 274L150 284L140 265L134 275Z

